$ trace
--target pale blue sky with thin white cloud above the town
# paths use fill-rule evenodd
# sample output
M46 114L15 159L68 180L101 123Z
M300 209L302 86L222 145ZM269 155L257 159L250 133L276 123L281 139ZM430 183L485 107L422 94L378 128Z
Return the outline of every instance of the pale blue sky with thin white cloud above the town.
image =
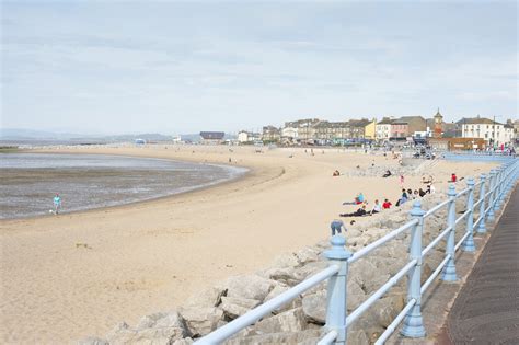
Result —
M516 1L1 1L1 127L518 116Z

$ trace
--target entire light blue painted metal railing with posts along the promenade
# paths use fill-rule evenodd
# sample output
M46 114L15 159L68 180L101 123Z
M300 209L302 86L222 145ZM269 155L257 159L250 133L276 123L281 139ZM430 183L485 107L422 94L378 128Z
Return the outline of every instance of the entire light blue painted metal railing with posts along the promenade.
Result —
M201 337L196 341L195 344L222 343L244 327L269 315L279 307L290 302L302 292L308 291L326 279L328 280L326 323L324 325L326 333L318 344L346 344L348 327L405 275L408 276L407 303L377 340L376 344L383 344L402 321L404 321L401 331L402 335L408 337L425 336L426 330L424 327L420 309L422 296L440 274L442 280L454 281L458 279L454 261L455 252L460 248L465 252L475 251L473 240L474 232L486 232L485 223L495 220L495 211L500 209L507 195L512 191L517 179L519 179L519 161L508 159L499 168L491 170L488 177L482 174L478 182L474 182L473 179L468 179L466 188L459 193L457 193L454 185L451 184L447 194L449 197L447 200L438 204L428 211L423 210L420 202L416 200L411 210L412 220L353 254L346 250L346 239L344 237L338 234L333 235L331 240L332 248L324 252L324 256L330 262L330 266L326 269L321 271L289 290L249 311L244 315ZM477 202L474 203L474 191L477 187L480 188L480 195ZM465 211L455 218L455 202L463 196L466 198ZM447 228L424 248L422 241L425 219L443 207L447 207L448 210ZM474 221L474 210L476 209L478 209L478 218ZM463 220L465 220L464 234L458 243L455 243L455 230ZM332 227L334 227L334 225L332 225ZM349 265L405 231L411 231L410 261L400 272L348 315L346 308L346 287ZM422 263L424 256L441 240L447 242L446 256L422 285Z

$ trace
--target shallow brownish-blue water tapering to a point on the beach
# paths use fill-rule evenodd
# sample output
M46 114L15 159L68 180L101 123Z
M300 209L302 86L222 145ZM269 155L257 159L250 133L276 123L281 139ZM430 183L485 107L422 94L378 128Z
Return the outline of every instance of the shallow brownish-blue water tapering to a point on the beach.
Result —
M237 179L246 169L101 154L0 153L0 218L102 208L188 192Z

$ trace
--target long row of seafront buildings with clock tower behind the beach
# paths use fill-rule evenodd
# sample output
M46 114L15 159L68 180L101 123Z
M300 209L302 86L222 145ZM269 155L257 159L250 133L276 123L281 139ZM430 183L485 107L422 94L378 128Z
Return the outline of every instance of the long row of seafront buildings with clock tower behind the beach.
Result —
M474 148L518 141L519 122L497 123L484 117L466 118L447 123L440 110L429 118L423 116L383 117L330 122L320 118L303 118L286 122L284 126L264 126L262 133L241 130L240 143L263 142L281 145L431 145L437 148ZM210 133L208 133L210 134ZM210 137L210 138L209 138ZM216 140L214 136L204 139ZM437 140L432 140L437 139ZM457 140L446 140L457 139ZM459 139L459 140L458 140ZM480 139L483 139L480 140Z

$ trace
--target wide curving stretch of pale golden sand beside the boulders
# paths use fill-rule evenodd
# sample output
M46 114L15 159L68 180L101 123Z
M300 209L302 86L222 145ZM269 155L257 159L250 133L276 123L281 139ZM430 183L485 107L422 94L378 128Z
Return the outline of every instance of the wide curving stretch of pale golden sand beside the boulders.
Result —
M333 177L395 169L390 157L304 149L204 146L92 147L50 152L178 159L246 166L245 177L192 193L106 209L0 221L0 342L73 343L118 322L172 310L197 290L268 265L330 235L330 221L362 192L372 206L400 195L397 175ZM493 163L427 161L405 176L437 191L452 172L478 176ZM359 165L360 168L356 168ZM465 181L461 184L464 185ZM64 200L66 204L66 200ZM374 216L381 217L381 215ZM361 222L362 219L359 219Z

